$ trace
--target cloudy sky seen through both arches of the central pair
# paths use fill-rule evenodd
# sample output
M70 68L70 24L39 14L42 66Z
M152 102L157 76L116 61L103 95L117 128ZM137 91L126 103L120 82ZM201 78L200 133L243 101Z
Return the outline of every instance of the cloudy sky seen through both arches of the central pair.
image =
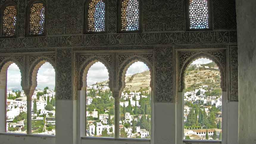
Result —
M149 68L143 62L135 62L127 69L126 75L132 75L135 73L141 73L147 71ZM87 85L95 84L96 82L102 82L108 80L107 68L101 62L93 64L87 74Z

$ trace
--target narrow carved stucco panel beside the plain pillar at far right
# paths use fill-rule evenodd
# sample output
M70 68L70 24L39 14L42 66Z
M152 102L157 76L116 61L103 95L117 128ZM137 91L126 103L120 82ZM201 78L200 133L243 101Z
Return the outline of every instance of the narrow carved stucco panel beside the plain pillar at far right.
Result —
M238 101L238 53L237 46L229 48L230 62L230 82L229 82L229 101Z

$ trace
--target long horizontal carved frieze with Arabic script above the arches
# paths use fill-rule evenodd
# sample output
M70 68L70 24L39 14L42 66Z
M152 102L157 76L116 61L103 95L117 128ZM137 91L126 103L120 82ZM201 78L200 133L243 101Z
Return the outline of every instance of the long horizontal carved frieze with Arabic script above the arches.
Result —
M49 48L69 46L129 46L212 43L227 44L231 43L230 37L236 37L235 35L236 32L229 31L199 31L22 37L0 39L0 48ZM232 41L232 43L236 43L236 41Z

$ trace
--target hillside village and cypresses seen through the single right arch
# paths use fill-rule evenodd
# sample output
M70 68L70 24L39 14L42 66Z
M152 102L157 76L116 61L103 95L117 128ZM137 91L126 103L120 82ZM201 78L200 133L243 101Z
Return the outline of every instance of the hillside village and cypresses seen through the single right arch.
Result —
M216 65L190 65L189 68L197 73L200 70L218 71ZM190 71L186 74L190 74ZM201 83L196 83L199 85L197 89L184 92L184 139L221 140L222 95L209 94L214 89Z

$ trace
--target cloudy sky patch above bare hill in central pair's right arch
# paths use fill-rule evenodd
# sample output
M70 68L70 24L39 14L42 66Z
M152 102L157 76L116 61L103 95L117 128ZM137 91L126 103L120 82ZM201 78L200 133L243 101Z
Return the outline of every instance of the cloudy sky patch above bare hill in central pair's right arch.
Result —
M133 75L135 73L141 73L143 71L148 71L149 67L143 62L134 62L126 71L126 76Z

